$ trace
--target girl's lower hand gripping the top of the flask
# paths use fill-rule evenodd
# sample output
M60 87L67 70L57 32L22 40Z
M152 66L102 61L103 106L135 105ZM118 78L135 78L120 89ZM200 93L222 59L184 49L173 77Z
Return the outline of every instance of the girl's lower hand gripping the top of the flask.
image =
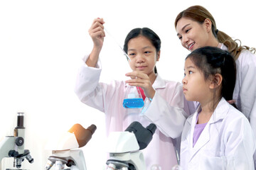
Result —
M129 72L125 74L127 77L131 77L131 79L125 81L130 86L139 86L143 89L144 94L147 98L153 98L155 94L155 90L150 82L148 75L142 72Z

